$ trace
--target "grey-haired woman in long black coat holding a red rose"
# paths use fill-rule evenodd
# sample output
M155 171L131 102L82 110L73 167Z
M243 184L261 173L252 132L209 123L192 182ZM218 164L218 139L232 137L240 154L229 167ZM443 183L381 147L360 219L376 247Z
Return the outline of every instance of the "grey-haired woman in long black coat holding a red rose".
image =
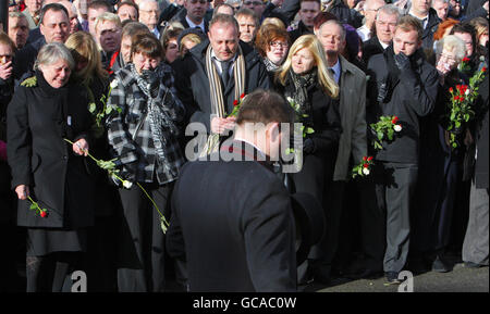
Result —
M81 89L69 84L74 61L63 45L44 46L35 68L8 108L17 225L27 227L27 291L70 291L94 224L94 184L84 158L91 117ZM39 208L30 209L32 201Z

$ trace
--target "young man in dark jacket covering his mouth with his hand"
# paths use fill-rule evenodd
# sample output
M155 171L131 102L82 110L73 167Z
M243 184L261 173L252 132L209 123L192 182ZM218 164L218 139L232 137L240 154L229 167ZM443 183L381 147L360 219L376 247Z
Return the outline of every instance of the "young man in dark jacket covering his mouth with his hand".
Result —
M393 140L382 142L376 155L380 168L380 200L387 209L387 250L383 269L389 284L399 284L409 246L409 209L417 183L419 117L429 114L438 93L438 72L420 50L422 29L417 18L404 16L394 32L393 45L368 64L368 122L396 116L401 126ZM396 131L400 130L400 131Z

